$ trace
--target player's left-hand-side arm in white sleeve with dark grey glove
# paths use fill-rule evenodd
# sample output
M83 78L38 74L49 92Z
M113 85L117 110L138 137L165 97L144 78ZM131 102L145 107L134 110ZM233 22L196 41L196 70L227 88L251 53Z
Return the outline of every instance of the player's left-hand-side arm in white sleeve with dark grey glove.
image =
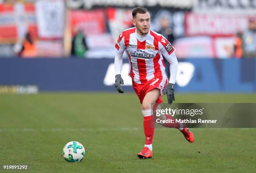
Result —
M123 85L123 79L121 77L121 71L123 66L123 52L125 51L125 43L123 35L119 35L119 38L115 44L115 88L119 93L123 93L121 84Z

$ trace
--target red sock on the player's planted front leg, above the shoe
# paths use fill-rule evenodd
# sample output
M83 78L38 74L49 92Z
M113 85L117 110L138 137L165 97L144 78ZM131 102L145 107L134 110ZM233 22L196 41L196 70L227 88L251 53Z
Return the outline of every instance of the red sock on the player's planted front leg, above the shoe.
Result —
M155 131L155 121L154 115L144 116L143 120L144 133L146 137L146 145L152 144L154 131Z

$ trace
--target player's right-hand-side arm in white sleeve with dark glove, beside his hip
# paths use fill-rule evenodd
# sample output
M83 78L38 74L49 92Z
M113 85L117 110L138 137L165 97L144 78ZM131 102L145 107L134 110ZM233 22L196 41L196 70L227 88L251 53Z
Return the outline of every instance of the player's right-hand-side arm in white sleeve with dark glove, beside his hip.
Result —
M163 93L167 95L168 103L172 104L172 101L175 101L174 84L178 71L178 60L174 53L175 49L172 47L171 43L169 43L164 37L163 40L164 41L159 42L159 50L164 58L170 63L170 79Z

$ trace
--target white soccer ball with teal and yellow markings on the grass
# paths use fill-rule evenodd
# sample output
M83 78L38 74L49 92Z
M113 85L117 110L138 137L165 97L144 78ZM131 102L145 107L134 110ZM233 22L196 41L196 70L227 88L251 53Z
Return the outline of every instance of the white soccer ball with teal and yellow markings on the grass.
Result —
M69 162L81 162L85 156L84 146L77 141L71 141L64 146L62 155Z

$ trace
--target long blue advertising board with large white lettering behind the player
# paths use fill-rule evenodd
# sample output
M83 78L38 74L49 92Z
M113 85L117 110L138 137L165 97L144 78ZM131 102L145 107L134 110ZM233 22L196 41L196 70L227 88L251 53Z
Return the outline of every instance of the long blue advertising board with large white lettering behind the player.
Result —
M256 92L255 67L256 59L179 59L175 91ZM133 91L128 70L128 60L124 59L125 92ZM0 85L36 85L40 91L117 92L112 59L0 58Z

